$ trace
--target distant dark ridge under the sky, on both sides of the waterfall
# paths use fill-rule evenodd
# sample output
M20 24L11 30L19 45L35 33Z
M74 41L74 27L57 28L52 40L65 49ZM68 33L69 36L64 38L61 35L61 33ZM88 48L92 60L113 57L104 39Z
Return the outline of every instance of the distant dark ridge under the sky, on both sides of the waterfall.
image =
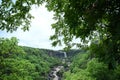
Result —
M64 58L64 51L63 50L50 50L50 49L39 49L39 48L32 48L32 47L27 47L27 46L21 46L27 53L31 52L35 53L36 50L38 50L41 52L44 52L44 54L49 55L51 57L55 57L55 58ZM67 57L73 57L76 54L78 54L79 52L83 52L83 50L79 50L79 49L71 49L69 51L66 52Z

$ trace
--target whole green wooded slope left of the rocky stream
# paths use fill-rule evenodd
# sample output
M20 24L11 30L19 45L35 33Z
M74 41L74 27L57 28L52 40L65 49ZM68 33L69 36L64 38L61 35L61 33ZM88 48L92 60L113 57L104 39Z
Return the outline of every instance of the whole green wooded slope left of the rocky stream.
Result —
M15 37L0 38L0 80L46 80L59 62L43 50L18 46Z

